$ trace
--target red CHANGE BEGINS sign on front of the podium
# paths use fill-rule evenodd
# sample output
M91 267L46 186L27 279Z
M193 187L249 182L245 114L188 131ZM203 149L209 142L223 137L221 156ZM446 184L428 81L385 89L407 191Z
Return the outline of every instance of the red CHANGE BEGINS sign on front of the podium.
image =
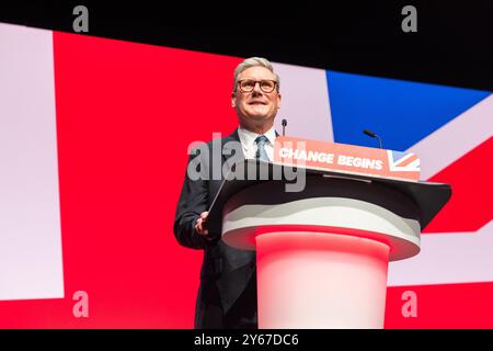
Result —
M276 138L274 162L344 173L420 180L420 159L412 152L295 137Z

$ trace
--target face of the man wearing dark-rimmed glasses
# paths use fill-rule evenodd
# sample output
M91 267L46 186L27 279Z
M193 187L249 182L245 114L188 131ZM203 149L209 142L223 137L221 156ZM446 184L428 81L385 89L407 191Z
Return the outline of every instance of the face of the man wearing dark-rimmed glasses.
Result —
M276 77L267 68L250 67L238 78L239 81L245 79L261 81L275 80ZM231 103L243 125L262 126L273 123L277 110L280 107L280 94L277 89L268 93L262 91L260 83L255 83L251 92L241 92L237 86L237 91L231 94Z

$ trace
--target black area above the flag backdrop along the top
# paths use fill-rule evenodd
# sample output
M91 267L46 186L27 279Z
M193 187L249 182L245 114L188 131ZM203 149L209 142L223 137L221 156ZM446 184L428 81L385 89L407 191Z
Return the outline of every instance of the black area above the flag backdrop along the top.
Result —
M411 81L493 90L492 1L2 2L0 22ZM417 32L404 33L404 5Z

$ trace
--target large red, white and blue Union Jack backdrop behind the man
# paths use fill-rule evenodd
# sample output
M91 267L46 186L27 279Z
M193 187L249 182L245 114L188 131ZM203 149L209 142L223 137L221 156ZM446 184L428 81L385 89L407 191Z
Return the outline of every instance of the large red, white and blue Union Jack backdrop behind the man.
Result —
M188 145L237 126L241 60L0 24L1 328L193 327L202 252L174 210ZM386 328L492 328L491 92L275 69L278 131L378 147L368 128L421 160L393 167L452 186L422 252L390 264Z

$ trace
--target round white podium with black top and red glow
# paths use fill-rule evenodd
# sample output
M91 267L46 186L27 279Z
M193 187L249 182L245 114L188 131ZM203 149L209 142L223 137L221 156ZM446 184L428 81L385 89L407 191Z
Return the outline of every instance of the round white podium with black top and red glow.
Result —
M259 328L382 328L388 262L420 252L450 186L259 160L233 171L248 169L222 182L208 222L256 250ZM302 191L286 191L288 170Z

